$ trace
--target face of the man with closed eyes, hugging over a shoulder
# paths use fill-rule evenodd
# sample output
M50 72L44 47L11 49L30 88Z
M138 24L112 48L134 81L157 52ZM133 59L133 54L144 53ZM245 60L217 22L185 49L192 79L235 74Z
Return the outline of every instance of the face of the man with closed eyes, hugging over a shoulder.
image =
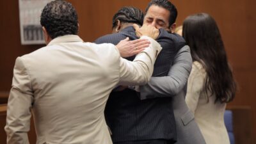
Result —
M160 6L152 5L144 17L143 24L154 26L157 29L163 28L170 31L169 26L170 12Z

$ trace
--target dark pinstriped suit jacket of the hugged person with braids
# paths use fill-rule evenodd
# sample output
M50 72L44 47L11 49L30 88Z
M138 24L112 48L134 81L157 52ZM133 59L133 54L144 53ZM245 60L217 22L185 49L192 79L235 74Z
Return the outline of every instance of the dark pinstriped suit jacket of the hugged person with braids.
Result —
M137 39L132 27L119 33L98 38L95 43L118 44L126 37ZM185 45L184 39L160 29L157 42L163 47L154 65L152 76L167 76L177 51ZM127 58L133 60L133 57ZM138 93L125 89L111 92L105 109L106 122L109 125L114 142L136 140L175 140L175 120L172 98L140 100Z

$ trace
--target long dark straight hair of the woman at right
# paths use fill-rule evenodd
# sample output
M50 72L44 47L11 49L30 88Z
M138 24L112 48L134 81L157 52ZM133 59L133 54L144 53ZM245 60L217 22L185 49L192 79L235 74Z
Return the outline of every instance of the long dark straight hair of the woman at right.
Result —
M233 100L236 82L215 20L207 13L191 15L184 20L182 36L191 49L193 61L205 68L205 92L215 94L215 102Z

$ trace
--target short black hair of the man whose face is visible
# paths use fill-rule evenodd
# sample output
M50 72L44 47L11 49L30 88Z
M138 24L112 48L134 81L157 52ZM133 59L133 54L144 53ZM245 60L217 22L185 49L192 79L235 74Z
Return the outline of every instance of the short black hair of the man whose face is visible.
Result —
M148 12L148 8L150 8L150 6L152 5L160 6L170 12L169 26L172 26L172 24L176 21L177 15L178 15L175 5L173 5L168 0L152 0L150 1L150 3L148 3L148 6L146 8L146 13Z

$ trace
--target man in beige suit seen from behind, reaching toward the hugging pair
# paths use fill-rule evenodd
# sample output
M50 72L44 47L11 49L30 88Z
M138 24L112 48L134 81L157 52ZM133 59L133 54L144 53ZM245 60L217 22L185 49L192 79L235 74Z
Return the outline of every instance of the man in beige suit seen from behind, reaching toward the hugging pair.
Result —
M46 47L17 58L8 100L7 143L29 143L31 111L38 144L110 144L104 118L106 100L117 85L145 84L161 47L150 41L118 45L84 43L77 36L76 10L65 1L45 6L40 20ZM150 26L139 29L156 38ZM145 28L144 27L144 28ZM149 33L149 32L152 33ZM118 47L145 47L134 61L120 58Z

